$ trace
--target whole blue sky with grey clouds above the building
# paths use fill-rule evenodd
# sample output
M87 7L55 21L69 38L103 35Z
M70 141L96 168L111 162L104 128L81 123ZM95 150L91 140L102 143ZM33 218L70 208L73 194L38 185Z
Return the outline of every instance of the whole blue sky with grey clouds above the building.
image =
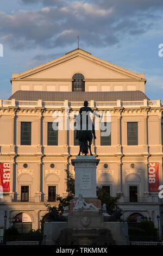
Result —
M163 102L162 0L1 0L0 99L11 95L11 73L79 47L146 74L146 94Z

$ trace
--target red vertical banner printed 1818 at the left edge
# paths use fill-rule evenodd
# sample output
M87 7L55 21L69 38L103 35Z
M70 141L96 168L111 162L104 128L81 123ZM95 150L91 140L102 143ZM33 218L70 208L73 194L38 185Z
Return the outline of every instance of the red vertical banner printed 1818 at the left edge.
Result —
M10 192L10 163L0 163L1 191Z

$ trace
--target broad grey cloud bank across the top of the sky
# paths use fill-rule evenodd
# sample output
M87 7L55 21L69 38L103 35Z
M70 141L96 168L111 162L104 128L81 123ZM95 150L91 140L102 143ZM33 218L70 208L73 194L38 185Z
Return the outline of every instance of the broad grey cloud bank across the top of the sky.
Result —
M156 26L162 0L18 0L41 9L0 13L0 36L14 50L54 48L80 42L107 47L145 34ZM40 6L40 5L39 5Z

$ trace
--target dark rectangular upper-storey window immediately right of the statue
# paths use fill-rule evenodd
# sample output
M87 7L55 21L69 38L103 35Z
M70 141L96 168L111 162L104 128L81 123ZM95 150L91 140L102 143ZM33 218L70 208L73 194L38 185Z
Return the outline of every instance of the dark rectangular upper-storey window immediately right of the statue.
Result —
M111 146L111 123L102 123L105 130L101 129L101 146Z

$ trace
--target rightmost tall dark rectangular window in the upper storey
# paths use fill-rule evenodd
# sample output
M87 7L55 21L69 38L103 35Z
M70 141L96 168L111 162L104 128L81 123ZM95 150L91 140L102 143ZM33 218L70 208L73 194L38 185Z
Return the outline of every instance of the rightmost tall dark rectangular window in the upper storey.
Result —
M138 145L138 129L137 122L127 123L127 144Z

